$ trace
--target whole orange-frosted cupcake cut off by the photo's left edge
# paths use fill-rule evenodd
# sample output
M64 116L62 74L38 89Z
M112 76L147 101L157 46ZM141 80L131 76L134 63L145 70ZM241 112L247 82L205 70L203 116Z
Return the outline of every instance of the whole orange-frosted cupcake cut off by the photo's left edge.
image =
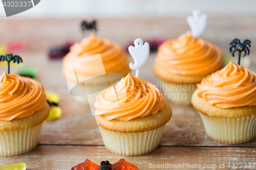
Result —
M20 155L34 149L49 112L40 83L5 72L0 78L0 155Z

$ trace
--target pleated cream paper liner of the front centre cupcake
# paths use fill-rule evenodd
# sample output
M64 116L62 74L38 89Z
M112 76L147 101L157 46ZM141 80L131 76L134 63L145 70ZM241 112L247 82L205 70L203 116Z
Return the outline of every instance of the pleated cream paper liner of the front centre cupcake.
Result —
M150 131L124 133L99 126L103 142L110 152L122 156L139 156L157 149L165 125Z

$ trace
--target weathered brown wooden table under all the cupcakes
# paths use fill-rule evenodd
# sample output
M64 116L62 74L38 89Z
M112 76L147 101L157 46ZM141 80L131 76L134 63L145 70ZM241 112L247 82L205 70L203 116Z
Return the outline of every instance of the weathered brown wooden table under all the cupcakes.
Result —
M99 164L102 160L111 163L123 158L139 169L150 168L152 164L216 164L208 169L220 169L220 163L255 163L256 140L242 144L223 144L207 137L202 120L192 106L177 106L172 103L173 117L166 124L161 144L154 152L139 157L123 157L105 149L90 108L81 106L69 95L65 79L61 75L61 60L47 58L49 46L67 40L81 39L78 32L80 18L75 19L1 19L0 42L23 39L27 41L26 51L19 52L25 65L38 70L38 81L46 90L60 96L61 118L45 122L38 147L20 156L0 157L0 165L25 162L27 169L70 169L85 159ZM239 20L239 22L238 22ZM189 28L185 18L132 18L99 19L99 36L118 41L123 47L137 37L150 40L157 36L177 37ZM144 31L146 29L146 31ZM256 17L211 17L202 38L218 44L228 54L228 42L238 37L252 41L251 66L256 71ZM152 72L156 53L152 53L140 72L145 81L157 84ZM7 68L0 65L1 72ZM11 66L11 72L18 67ZM192 165L193 166L193 165ZM189 169L187 166L184 169ZM256 166L254 166L256 168ZM179 168L177 168L179 169ZM243 168L245 169L245 168ZM252 168L249 168L252 169Z

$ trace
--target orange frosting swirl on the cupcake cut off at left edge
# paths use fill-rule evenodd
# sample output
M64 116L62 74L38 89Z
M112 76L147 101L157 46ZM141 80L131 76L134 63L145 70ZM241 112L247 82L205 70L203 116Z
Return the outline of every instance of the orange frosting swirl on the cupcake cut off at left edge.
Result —
M45 103L45 89L37 81L6 72L1 76L0 120L28 117Z

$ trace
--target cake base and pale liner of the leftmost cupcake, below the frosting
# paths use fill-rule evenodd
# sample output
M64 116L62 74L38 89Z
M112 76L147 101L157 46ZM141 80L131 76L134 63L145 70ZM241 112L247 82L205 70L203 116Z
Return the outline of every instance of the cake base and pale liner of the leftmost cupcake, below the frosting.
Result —
M44 120L50 113L48 103L32 115L0 121L0 155L15 156L33 150L38 142Z

